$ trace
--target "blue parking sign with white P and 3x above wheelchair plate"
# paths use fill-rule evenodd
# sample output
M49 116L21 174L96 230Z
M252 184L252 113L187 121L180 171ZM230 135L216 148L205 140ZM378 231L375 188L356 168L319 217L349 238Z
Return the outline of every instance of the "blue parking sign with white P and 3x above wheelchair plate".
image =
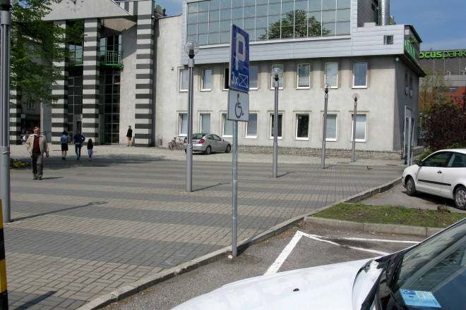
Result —
M249 92L249 34L233 24L229 55L229 88Z

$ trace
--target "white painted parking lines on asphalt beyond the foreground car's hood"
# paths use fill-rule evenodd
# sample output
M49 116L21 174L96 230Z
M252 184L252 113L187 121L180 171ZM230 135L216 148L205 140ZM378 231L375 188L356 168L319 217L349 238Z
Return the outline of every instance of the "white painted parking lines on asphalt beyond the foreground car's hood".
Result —
M317 240L325 243L330 243L334 244L337 246L340 246L340 244L337 244L336 242L325 240L326 237L324 236L319 236L319 235L309 235L306 233L303 233L301 231L297 231L296 234L294 234L294 237L292 240L287 244L285 249L283 249L282 253L275 259L273 264L268 268L268 270L265 272L264 275L270 275L273 273L276 273L278 269L282 266L283 263L285 263L287 257L289 254L293 251L294 247L296 247L296 244L299 242L301 237L308 237L311 238L312 240ZM324 238L324 239L323 239ZM417 244L419 242L417 241L407 241L407 240L386 240L386 239L369 239L369 238L356 238L356 237L339 237L337 238L339 240L358 240L358 241L375 241L375 242L398 242L398 243L410 243L410 244ZM374 254L379 254L379 255L388 255L390 253L386 252L381 252L381 251L376 251L374 249L364 249L362 247L347 247L349 249L356 249L358 251L364 251L364 252L370 252Z

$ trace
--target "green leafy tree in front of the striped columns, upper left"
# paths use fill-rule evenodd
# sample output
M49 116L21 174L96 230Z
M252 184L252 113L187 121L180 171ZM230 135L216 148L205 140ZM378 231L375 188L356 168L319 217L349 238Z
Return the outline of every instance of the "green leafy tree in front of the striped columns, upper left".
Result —
M17 104L56 104L51 86L64 80L54 61L69 56L71 42L83 42L83 23L60 27L43 20L61 0L22 0L11 8L11 89Z

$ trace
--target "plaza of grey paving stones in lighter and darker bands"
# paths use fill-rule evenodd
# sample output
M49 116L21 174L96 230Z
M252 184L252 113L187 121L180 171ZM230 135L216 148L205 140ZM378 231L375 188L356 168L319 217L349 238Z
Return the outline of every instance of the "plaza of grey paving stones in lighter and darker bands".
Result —
M232 154L97 146L92 161L50 146L44 178L11 171L5 225L10 309L86 302L231 244ZM28 159L23 146L12 158ZM83 152L84 154L84 152ZM238 240L400 177L402 161L239 154ZM368 168L369 166L369 168Z

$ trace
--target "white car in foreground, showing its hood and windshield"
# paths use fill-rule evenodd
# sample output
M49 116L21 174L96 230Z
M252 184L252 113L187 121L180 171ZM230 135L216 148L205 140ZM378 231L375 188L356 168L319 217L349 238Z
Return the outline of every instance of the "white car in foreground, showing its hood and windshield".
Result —
M400 252L263 275L174 309L466 309L466 219Z

